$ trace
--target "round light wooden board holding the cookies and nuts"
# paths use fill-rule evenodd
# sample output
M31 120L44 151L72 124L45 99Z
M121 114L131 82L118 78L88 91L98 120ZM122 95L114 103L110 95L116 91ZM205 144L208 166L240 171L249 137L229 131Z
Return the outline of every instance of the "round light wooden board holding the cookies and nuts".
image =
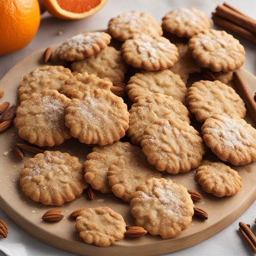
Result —
M13 67L0 81L0 88L4 89L3 101L9 101L17 104L17 86L22 77L28 74L36 67L43 65L42 54L44 49L36 51ZM248 86L253 92L253 84L256 83L256 77L241 68L239 70L243 75ZM252 118L246 116L246 120L253 124ZM79 238L75 221L68 218L70 212L79 207L97 207L109 206L116 212L124 216L127 225L133 225L134 220L129 212L129 204L122 202L113 195L103 195L96 193L96 199L88 200L86 192L81 198L74 202L60 207L65 218L58 223L47 223L42 221L41 217L45 211L56 207L36 204L22 195L19 186L19 173L29 155L23 161L17 160L12 152L4 156L4 152L9 152L13 144L20 139L17 137L17 131L14 127L0 134L0 207L7 216L9 216L17 225L22 227L32 236L37 237L45 243L51 244L63 250L67 250L78 255L157 255L161 253L170 253L177 250L193 246L196 243L204 241L213 236L221 229L227 227L232 221L236 220L256 198L256 175L253 168L256 163L246 166L235 167L243 180L241 191L236 196L230 198L216 198L204 193L195 182L195 171L169 176L174 182L183 184L188 189L195 189L203 196L203 200L196 202L197 207L205 209L209 214L209 220L202 221L193 218L190 227L184 230L174 239L161 239L159 236L144 236L140 239L123 239L115 244L100 248L90 244L85 244ZM57 147L63 152L79 157L81 163L91 148L82 145L77 140L71 139ZM211 154L210 154L211 155ZM235 232L235 230L234 230Z

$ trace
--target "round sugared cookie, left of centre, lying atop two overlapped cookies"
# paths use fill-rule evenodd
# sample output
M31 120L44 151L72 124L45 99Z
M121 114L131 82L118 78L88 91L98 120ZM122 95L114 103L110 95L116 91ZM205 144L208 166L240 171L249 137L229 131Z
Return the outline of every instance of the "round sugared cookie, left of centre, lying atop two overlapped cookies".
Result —
M112 144L124 137L129 127L127 105L108 90L84 92L84 99L72 99L65 113L70 134L81 143Z

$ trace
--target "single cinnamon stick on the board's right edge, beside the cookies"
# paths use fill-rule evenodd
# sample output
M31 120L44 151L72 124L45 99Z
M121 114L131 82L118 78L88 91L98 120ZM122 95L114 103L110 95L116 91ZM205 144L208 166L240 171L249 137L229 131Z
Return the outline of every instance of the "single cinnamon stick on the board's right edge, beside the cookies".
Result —
M252 115L253 120L256 122L256 102L253 100L243 77L238 72L234 72L233 81L236 84L239 95L244 100L246 108Z

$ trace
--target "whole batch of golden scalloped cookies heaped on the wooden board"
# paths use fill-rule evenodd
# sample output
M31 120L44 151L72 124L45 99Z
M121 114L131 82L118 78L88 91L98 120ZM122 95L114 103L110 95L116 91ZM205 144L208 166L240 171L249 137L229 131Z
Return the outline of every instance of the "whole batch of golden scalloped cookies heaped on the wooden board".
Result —
M162 27L182 43L163 37ZM211 20L194 8L166 14L162 27L147 13L123 13L109 21L110 35L81 33L55 49L52 60L68 61L73 72L45 65L24 77L15 118L21 138L40 147L70 137L94 145L83 166L59 151L29 159L20 173L29 198L63 205L90 184L130 203L136 224L166 239L188 228L194 213L188 190L170 175L198 168L196 180L207 193L239 191L236 171L202 159L209 147L234 165L256 161L256 130L243 120L244 102L221 83L243 65L243 46L211 29ZM122 42L119 50L109 46L111 36ZM127 68L132 72L125 74ZM189 75L205 68L217 79L187 88ZM117 84L129 100L112 92ZM194 115L204 123L202 135L191 125ZM125 134L130 142L120 141ZM99 207L80 211L76 228L86 243L108 246L124 237L125 222Z

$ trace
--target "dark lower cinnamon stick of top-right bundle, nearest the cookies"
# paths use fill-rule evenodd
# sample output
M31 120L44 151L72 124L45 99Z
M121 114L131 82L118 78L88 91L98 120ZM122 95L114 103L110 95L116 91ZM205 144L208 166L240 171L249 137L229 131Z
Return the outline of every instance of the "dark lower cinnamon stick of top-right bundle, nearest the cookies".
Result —
M222 28L229 29L237 35L243 36L244 38L248 39L253 44L256 44L256 34L237 26L236 24L223 19L218 15L218 13L212 13L212 20L214 23Z

